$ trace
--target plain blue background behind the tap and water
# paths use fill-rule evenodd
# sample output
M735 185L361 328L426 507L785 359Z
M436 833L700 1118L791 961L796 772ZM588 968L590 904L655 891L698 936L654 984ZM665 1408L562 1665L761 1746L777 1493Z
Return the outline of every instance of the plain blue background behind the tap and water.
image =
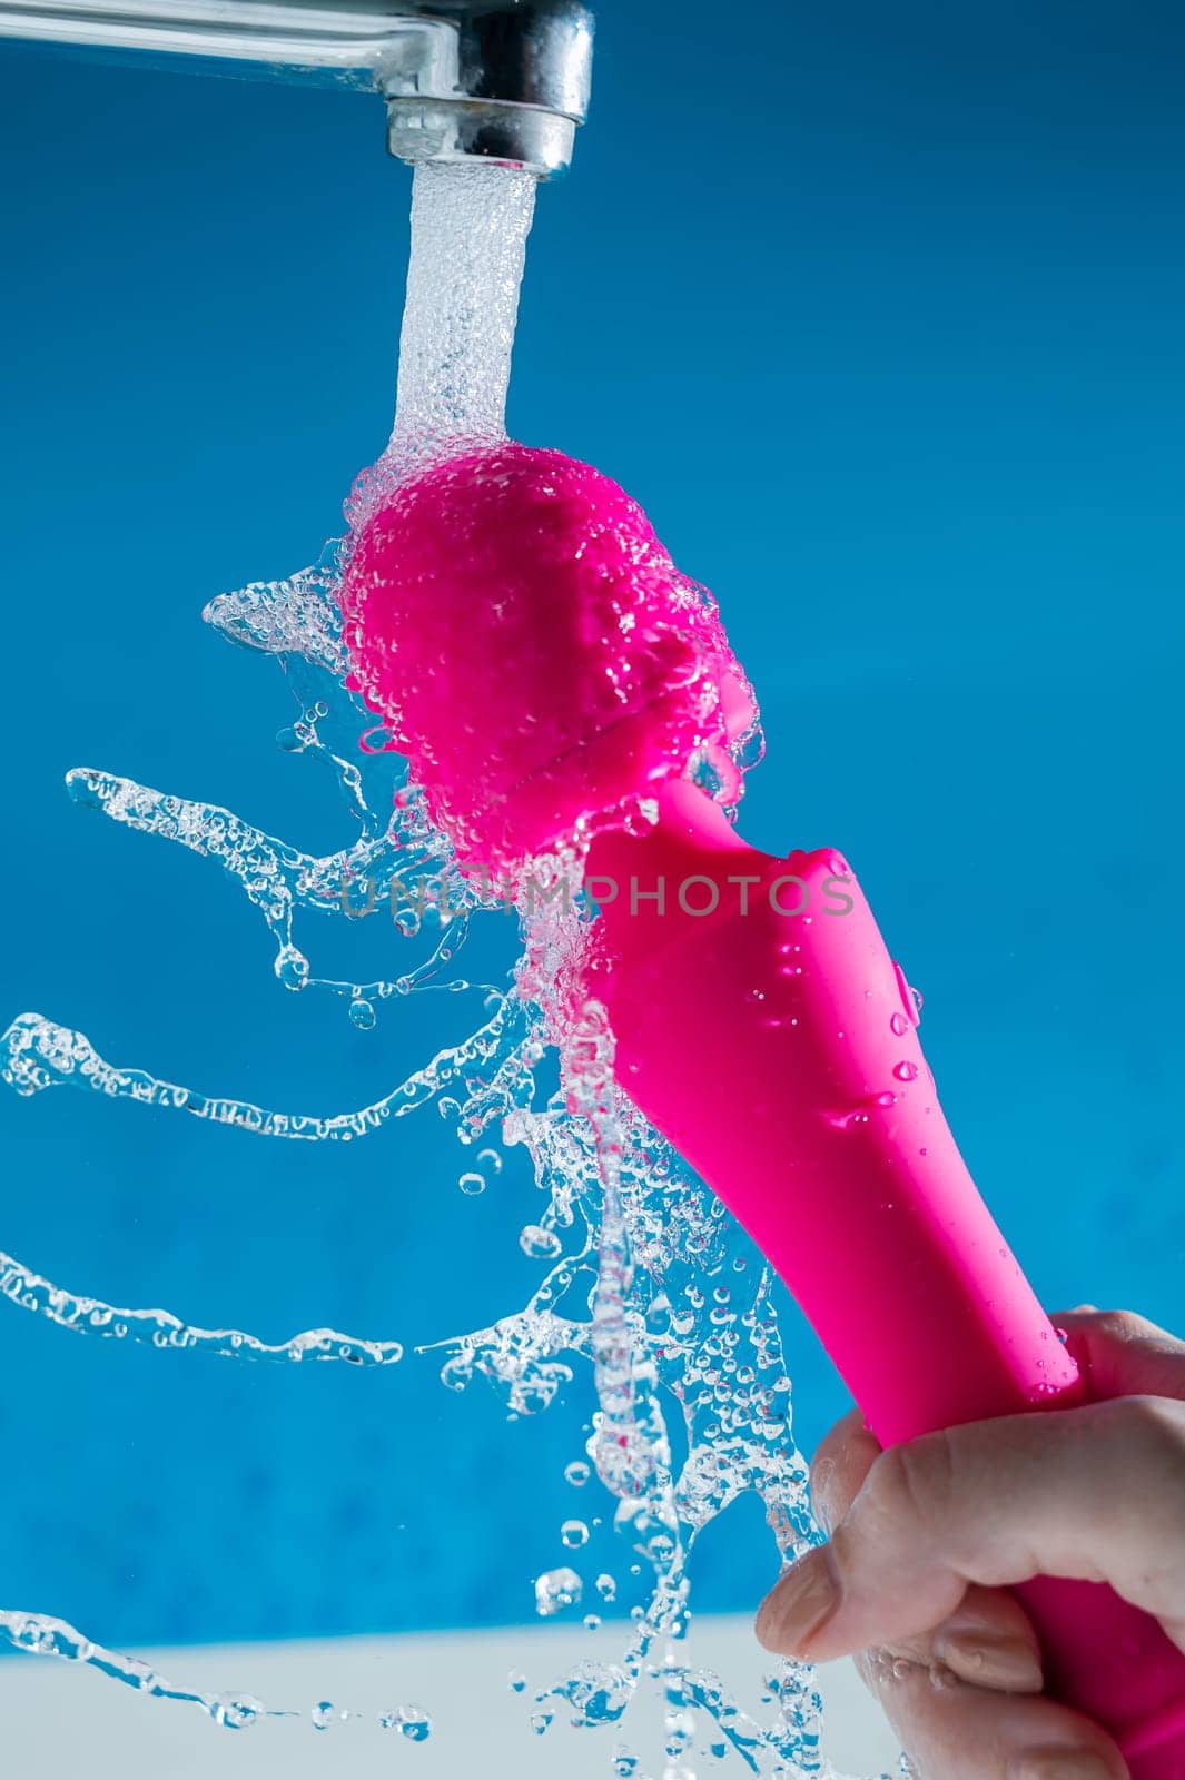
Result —
M1039 1290L1178 1324L1183 48L1132 0L607 4L511 399L715 587L769 730L746 829L856 862ZM217 870L60 780L345 838L272 744L279 675L199 609L310 561L384 441L409 174L374 101L14 50L0 134L4 1018L361 1104L455 1009L359 1034L286 995ZM415 1342L536 1274L534 1189L463 1198L432 1112L347 1150L64 1093L0 1121L0 1242L117 1303ZM843 1397L795 1323L790 1369L811 1445ZM528 1618L559 1520L603 1506L562 1481L587 1412L507 1428L432 1360L221 1365L0 1305L0 1604L114 1643ZM770 1574L730 1513L699 1606Z

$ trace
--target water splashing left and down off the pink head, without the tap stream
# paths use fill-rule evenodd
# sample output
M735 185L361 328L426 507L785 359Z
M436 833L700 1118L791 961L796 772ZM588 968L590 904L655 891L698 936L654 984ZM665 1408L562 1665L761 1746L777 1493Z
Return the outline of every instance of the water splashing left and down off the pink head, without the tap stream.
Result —
M304 619L294 612L285 616L283 586L297 589L292 596L295 614L304 612ZM318 586L322 591L331 587L324 580ZM221 618L230 611L242 611L242 602L221 605ZM320 618L302 637L299 625L308 612L301 577L269 587L267 635L283 641L283 666L290 675L301 643L306 648L301 660L310 671L324 675L326 659L336 659ZM226 634L235 634L235 627ZM258 634L263 634L262 621L251 637ZM249 641L249 646L260 643ZM329 748L320 732L351 723L356 730L365 723L361 707L342 684L322 682L304 746L310 751ZM215 806L173 799L109 774L71 778L85 785L82 801L123 826L142 828L217 860L265 913L279 940L278 958L285 958L297 910L345 913L340 894L335 897L327 890L351 870L356 878L365 870L383 883L383 874L393 876L393 860L407 846L416 860L431 862L448 878L447 846L425 829L415 792L397 803L391 826L379 829L375 781L381 785L383 776L390 783L386 753L363 756L349 774L336 771L361 835L329 863L310 860ZM770 1278L762 1273L746 1289L737 1273L735 1226L722 1205L685 1173L614 1082L614 1041L605 1011L576 993L591 922L580 892L580 862L569 856L534 860L528 876L537 883L564 878L569 894L536 897L530 908L520 908L523 951L512 983L484 986L482 1024L372 1107L329 1116L281 1114L231 1096L210 1096L141 1070L116 1068L82 1034L37 1015L21 1016L9 1027L4 1075L20 1093L66 1082L233 1123L260 1136L311 1141L361 1137L436 1100L468 1143L482 1139L489 1146L489 1134L498 1130L505 1146L525 1148L543 1210L518 1242L544 1264L543 1278L521 1310L438 1344L441 1378L454 1390L480 1378L498 1390L511 1412L536 1415L550 1408L560 1388L575 1383L578 1367L587 1369L598 1403L589 1458L616 1501L617 1533L651 1575L648 1600L635 1609L621 1661L582 1663L536 1691L536 1718L546 1728L562 1702L576 1725L616 1723L639 1689L655 1684L667 1702L669 1775L685 1769L699 1721L713 1727L710 1748L738 1753L753 1773L813 1773L820 1766L818 1702L806 1671L786 1664L770 1680L776 1718L758 1725L713 1677L680 1661L692 1552L710 1522L740 1495L756 1493L783 1556L797 1554L813 1536L806 1467L790 1435L790 1385ZM464 902L470 922L496 906L464 881L457 883L457 902ZM448 931L441 926L436 936L436 963L443 963L441 938ZM406 984L393 993L402 997L431 986L431 977L416 983L413 975L393 979ZM304 983L318 981L310 967ZM351 1000L359 999L356 986L351 988ZM546 1095L541 1064L552 1056L559 1056L560 1080ZM482 1153L482 1166L491 1169L489 1153ZM91 1301L69 1299L69 1294L53 1299L53 1292L48 1282L34 1289L46 1303L60 1305L68 1326L80 1326L85 1310L75 1305L89 1307ZM20 1294L14 1276L11 1296ZM119 1323L137 1317L135 1312L112 1315ZM196 1344L201 1335L167 1312L139 1315L148 1317L144 1328L157 1346L185 1346L189 1335ZM153 1315L162 1319L157 1328L151 1328ZM313 1339L318 1335L313 1331ZM217 1342L221 1337L206 1331L206 1339ZM683 1447L678 1463L671 1412ZM585 1593L584 1579L571 1570L564 1575L560 1568L539 1582L546 1582L544 1600L553 1602L544 1611L576 1606ZM616 1595L612 1577L598 1579L598 1593L601 1598ZM23 1616L23 1623L32 1625L34 1616Z

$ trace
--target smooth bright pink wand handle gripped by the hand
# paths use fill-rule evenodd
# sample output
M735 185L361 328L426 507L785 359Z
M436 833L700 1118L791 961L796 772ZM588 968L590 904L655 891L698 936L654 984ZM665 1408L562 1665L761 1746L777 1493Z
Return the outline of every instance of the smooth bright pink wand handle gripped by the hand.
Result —
M786 1282L881 1445L1080 1404L843 858L754 853L701 794L671 787L653 835L605 837L589 863L614 892L592 892L589 988L617 1079ZM681 885L694 897L676 902ZM747 890L703 917L703 885ZM1103 1584L1039 1577L1016 1593L1048 1691L1119 1741L1135 1780L1185 1780L1185 1652Z

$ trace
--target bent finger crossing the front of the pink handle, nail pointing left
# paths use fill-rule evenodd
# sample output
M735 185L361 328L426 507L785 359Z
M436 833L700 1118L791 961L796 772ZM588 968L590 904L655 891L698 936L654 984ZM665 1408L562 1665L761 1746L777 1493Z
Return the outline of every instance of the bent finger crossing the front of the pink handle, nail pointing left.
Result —
M939 1625L968 1582L1110 1582L1185 1650L1185 1406L1123 1397L1012 1415L891 1447L829 1545L758 1616L770 1648L811 1661Z

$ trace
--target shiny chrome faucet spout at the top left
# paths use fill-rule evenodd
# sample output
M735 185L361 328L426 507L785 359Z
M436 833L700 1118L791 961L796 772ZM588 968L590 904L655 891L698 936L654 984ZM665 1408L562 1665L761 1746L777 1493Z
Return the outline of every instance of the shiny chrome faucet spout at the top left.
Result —
M379 93L400 160L537 178L568 167L592 71L580 0L0 0L4 37Z

